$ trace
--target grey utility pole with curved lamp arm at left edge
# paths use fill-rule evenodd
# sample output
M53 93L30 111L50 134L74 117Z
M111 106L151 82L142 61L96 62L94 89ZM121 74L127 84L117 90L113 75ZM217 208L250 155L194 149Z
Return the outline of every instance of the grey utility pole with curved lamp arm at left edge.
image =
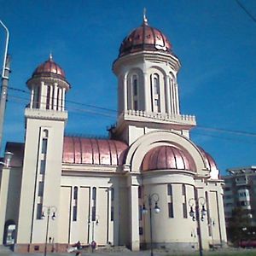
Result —
M6 32L6 42L5 42L5 49L4 49L4 55L3 55L1 98L0 98L0 154L1 154L2 138L3 138L3 120L4 120L4 113L5 113L5 108L6 108L5 105L6 105L6 101L7 101L9 73L10 73L10 58L8 55L9 30L8 30L7 26L5 26L1 20L0 20L0 25L3 26L3 28Z

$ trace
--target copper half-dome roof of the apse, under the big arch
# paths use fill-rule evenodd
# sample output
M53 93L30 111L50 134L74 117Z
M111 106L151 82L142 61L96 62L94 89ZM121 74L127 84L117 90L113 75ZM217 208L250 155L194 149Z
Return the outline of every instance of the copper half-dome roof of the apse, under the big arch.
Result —
M174 146L160 146L149 150L143 159L143 171L166 169L195 171L195 164L189 154Z

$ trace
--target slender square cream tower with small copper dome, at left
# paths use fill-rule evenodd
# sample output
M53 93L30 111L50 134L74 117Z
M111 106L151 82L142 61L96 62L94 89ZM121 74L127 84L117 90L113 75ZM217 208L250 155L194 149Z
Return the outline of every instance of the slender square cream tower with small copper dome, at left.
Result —
M19 251L27 244L44 243L44 207L54 206L57 215L67 122L65 96L70 89L63 69L53 61L52 55L36 68L26 84L31 99L25 109L26 141L16 244ZM49 230L55 242L58 241L57 225L55 221Z

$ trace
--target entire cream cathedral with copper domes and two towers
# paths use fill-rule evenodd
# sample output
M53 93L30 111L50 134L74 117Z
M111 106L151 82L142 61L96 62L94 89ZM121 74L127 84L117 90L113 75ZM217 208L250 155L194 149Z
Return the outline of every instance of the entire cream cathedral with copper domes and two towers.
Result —
M71 84L51 55L39 65L26 82L25 142L6 144L13 155L0 171L1 243L18 253L92 241L132 251L224 246L224 182L190 140L196 121L180 113L180 67L144 15L113 61L118 116L99 139L65 136Z

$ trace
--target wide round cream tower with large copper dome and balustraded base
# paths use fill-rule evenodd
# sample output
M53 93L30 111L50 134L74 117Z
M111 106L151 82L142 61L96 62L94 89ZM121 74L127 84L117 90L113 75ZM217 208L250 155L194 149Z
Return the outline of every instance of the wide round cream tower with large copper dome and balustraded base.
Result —
M152 130L189 137L195 116L180 113L177 73L181 67L172 44L160 30L143 24L122 42L113 62L118 78L119 119L113 135L133 143Z

